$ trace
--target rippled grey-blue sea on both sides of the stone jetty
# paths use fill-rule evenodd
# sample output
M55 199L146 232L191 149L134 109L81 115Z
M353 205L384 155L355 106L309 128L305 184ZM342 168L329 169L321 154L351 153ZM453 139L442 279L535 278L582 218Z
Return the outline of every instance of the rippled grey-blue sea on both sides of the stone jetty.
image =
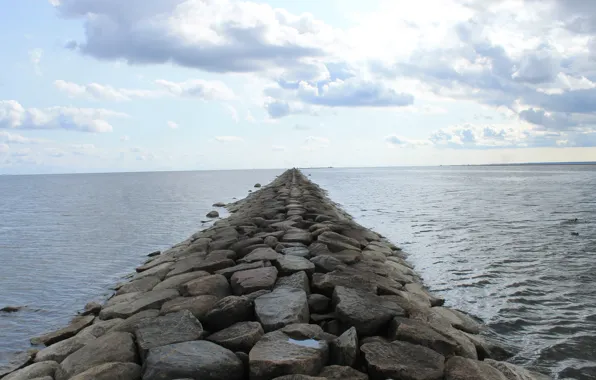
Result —
M282 170L0 176L0 363ZM596 379L596 166L305 169L556 379ZM219 210L225 216L223 210ZM576 220L577 219L577 220ZM577 234L577 235L575 235Z

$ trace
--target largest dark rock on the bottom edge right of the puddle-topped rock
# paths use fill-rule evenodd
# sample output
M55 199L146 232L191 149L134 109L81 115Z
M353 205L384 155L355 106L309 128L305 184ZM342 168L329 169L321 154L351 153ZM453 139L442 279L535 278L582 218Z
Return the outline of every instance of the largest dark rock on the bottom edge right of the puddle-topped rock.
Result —
M429 348L396 341L365 343L360 350L371 380L443 379L445 358Z

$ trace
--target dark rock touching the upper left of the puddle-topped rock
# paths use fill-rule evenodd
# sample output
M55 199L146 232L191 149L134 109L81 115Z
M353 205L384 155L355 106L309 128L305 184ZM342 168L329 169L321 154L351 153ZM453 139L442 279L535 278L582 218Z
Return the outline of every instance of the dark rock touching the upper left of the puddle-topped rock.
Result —
M259 322L238 322L209 335L207 340L232 351L249 352L261 339L264 331Z

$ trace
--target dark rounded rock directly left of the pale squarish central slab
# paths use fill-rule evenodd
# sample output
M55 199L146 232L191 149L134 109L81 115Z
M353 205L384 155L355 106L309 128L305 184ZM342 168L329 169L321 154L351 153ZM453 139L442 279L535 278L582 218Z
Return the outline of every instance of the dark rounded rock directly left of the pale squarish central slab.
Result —
M249 321L253 317L253 301L246 297L228 296L213 305L205 316L205 326L209 331L219 331L237 322Z

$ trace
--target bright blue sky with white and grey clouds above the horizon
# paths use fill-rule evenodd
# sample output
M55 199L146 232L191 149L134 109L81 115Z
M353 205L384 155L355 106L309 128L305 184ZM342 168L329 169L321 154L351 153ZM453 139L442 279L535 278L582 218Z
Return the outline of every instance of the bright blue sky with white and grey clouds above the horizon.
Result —
M3 0L0 174L596 161L596 2Z

